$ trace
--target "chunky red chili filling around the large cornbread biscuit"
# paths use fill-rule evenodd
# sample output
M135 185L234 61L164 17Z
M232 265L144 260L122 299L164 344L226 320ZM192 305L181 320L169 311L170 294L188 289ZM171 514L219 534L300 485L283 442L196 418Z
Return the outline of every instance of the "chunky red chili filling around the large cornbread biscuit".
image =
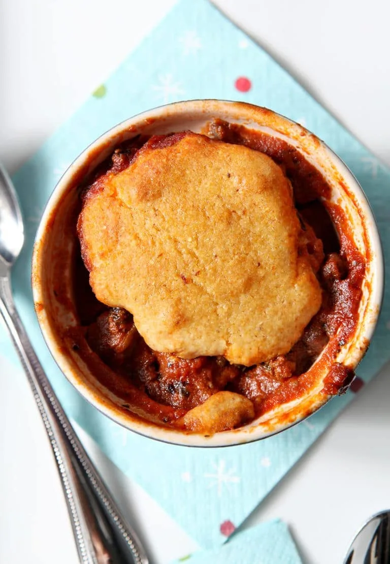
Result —
M130 313L98 302L81 255L76 253L74 297L81 331L72 335L74 347L88 357L95 376L123 399L124 407L138 407L154 421L178 428L184 426L185 413L221 390L250 399L256 417L301 396L313 382L309 368L329 340L338 332L336 350L353 333L365 270L364 258L348 235L342 209L327 201L329 184L298 150L269 134L220 120L212 122L206 134L266 153L282 166L293 186L295 206L307 233L307 249L323 298L320 311L286 355L253 367L229 364L223 357L185 360L151 350L136 330ZM160 136L156 146L175 143L180 135ZM146 140L138 137L118 147L92 179L94 189L108 171L117 173L127 168ZM87 195L88 188L84 197ZM334 363L323 392L340 393L352 378L352 371Z

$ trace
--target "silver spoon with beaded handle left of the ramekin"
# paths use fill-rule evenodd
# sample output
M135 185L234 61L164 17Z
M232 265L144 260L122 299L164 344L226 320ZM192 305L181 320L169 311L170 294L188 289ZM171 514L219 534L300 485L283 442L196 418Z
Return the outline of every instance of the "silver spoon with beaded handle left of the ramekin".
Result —
M60 474L83 564L148 564L132 528L88 458L56 398L12 299L10 273L24 242L14 187L0 165L0 313L37 402Z

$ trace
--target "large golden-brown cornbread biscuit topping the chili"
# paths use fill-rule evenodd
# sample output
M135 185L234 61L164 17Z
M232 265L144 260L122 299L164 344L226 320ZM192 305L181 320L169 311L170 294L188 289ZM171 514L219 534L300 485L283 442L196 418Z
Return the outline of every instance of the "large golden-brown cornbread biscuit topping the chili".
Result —
M321 305L290 183L247 147L150 139L92 186L78 232L96 297L157 351L257 364L289 351Z

